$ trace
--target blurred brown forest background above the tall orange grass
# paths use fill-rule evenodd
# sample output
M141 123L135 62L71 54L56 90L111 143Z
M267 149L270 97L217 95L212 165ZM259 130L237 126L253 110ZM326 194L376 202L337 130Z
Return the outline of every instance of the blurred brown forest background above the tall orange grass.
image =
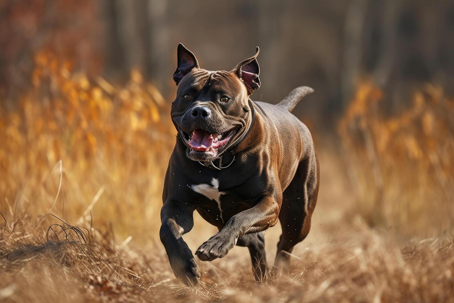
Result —
M230 70L260 46L263 85L254 99L276 103L309 85L317 94L296 114L322 125L365 75L392 96L390 110L430 81L453 93L449 0L14 0L0 11L6 99L30 85L33 54L50 49L109 81L138 69L170 100L179 42L208 70Z

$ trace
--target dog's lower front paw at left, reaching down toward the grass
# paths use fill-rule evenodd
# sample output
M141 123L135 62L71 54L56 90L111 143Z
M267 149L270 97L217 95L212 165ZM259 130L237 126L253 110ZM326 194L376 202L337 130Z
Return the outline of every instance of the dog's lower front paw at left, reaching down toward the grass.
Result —
M200 279L200 270L191 251L169 256L170 266L176 278L188 286L196 286Z

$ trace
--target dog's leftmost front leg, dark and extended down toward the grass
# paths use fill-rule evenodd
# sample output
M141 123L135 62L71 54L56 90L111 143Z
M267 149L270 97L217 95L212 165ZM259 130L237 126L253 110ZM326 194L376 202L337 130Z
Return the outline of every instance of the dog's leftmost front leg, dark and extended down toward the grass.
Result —
M188 286L195 286L200 279L200 271L188 244L181 237L194 225L194 209L178 201L167 201L161 209L161 229L159 237L166 248L170 266L175 277Z

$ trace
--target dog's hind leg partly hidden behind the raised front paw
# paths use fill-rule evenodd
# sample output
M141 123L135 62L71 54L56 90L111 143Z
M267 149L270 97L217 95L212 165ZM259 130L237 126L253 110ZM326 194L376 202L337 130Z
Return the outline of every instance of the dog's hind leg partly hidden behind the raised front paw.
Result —
M265 237L263 233L247 233L238 238L238 246L249 248L252 271L256 281L262 281L266 273Z

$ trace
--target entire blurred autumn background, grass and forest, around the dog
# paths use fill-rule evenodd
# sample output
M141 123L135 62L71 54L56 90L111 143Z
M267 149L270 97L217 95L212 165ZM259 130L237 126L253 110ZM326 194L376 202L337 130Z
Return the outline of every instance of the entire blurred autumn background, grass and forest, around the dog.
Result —
M259 46L253 100L315 89L293 113L321 188L288 276L253 283L242 248L198 262L208 286L173 276L158 230L179 42L208 70ZM0 301L452 300L453 96L452 0L0 1ZM184 239L216 232L196 214Z

